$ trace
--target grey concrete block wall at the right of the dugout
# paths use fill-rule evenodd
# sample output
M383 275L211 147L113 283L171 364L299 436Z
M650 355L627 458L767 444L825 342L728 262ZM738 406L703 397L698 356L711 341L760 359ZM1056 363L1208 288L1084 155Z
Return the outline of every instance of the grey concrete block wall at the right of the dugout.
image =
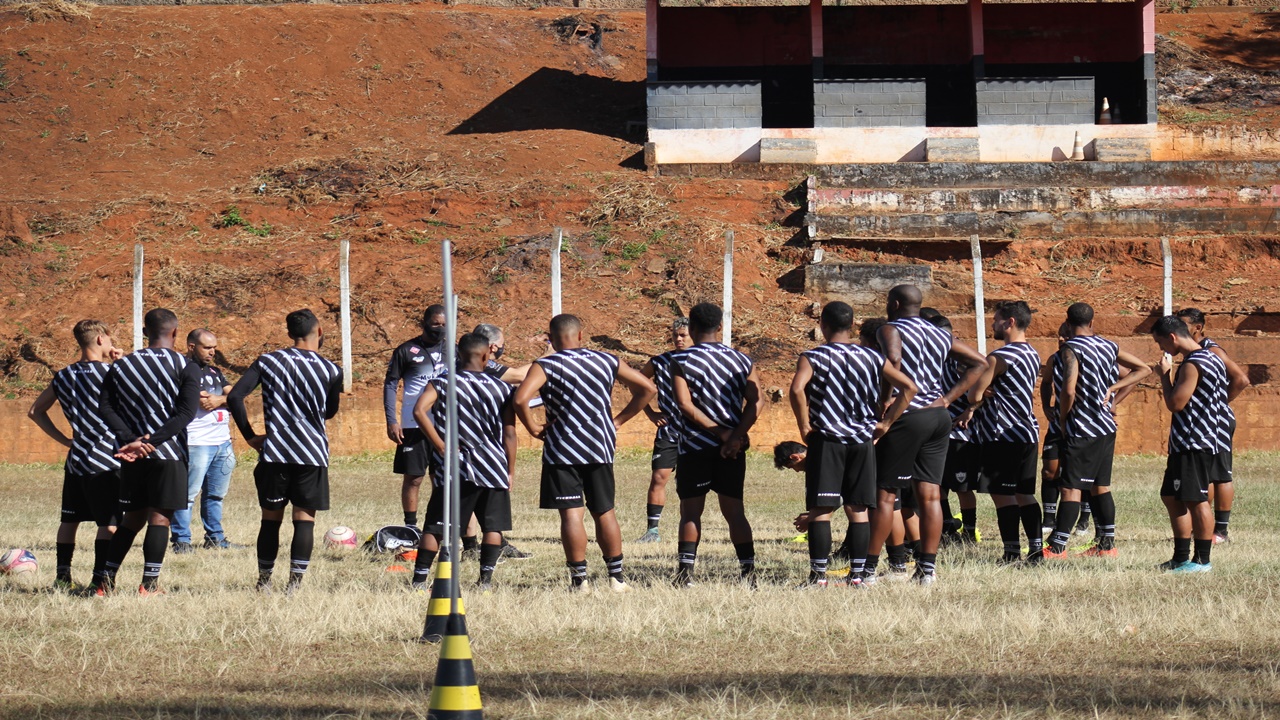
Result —
M979 126L1093 124L1092 77L983 78Z

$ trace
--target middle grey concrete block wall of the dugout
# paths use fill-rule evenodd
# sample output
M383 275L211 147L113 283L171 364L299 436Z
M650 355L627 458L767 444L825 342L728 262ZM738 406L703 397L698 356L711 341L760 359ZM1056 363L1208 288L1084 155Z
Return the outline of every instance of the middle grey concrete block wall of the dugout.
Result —
M818 128L924 127L924 81L841 79L813 86Z

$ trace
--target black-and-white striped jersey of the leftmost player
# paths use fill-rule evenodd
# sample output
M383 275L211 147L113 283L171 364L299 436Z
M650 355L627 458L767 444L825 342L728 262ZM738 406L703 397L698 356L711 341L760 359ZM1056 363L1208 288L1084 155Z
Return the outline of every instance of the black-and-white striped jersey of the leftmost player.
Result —
M111 428L99 411L102 383L110 368L106 363L74 363L58 370L50 383L72 427L67 471L73 475L97 475L120 468Z

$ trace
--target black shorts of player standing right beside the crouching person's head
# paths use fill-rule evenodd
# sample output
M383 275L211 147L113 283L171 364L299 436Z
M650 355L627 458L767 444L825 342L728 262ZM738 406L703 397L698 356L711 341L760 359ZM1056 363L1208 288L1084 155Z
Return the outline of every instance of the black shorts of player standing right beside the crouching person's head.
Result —
M741 496L739 496L741 497ZM876 507L876 446L809 436L804 474L805 507Z

